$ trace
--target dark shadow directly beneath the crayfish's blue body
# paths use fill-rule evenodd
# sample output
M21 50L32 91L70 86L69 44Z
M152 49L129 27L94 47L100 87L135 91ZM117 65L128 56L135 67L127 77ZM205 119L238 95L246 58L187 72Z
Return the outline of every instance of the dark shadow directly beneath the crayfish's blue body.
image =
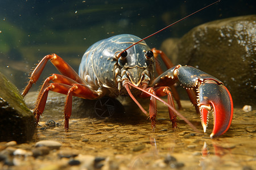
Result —
M81 115L82 117L95 118L102 120L106 123L119 123L119 124L148 124L150 120L148 117L139 109L130 97L118 97L117 99L111 97L103 97L98 100L82 100L82 103L86 106L87 111ZM74 101L74 99L73 99ZM149 102L149 100L146 100ZM143 108L148 108L148 102L143 100L139 102ZM73 114L73 113L72 113Z

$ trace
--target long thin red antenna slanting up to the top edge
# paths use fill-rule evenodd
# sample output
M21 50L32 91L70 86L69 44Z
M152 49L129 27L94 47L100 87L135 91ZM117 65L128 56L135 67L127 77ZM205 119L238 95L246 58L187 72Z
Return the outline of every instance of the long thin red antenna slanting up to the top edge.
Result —
M184 20L184 19L188 18L189 16L194 15L194 14L196 14L197 12L199 12L199 11L201 11L201 10L204 10L205 8L207 8L207 7L209 7L209 6L212 6L212 5L214 5L215 3L220 2L220 1L221 1L221 0L218 0L218 1L216 1L216 2L213 2L213 3L211 3L210 5L205 6L205 7L201 8L200 10L197 10L197 11L193 12L192 14L189 14L189 15L185 16L184 18L181 18L180 20L177 20L176 22L174 22L174 23L168 25L167 27L164 27L164 28L160 29L159 31L156 31L155 33L152 33L151 35L149 35L149 36L147 36L147 37L144 37L144 39L141 39L141 40L135 42L133 45L130 45L130 46L129 46L128 48L126 48L125 50L122 50L122 52L117 55L117 58L121 57L121 54L122 54L124 51L126 51L127 49L131 48L132 46L138 44L139 42L141 42L141 41L143 41L143 40L146 40L146 39L148 39L148 38L151 37L151 36L156 35L157 33L163 31L164 29L167 29L167 28L171 27L172 25L181 22L181 20Z

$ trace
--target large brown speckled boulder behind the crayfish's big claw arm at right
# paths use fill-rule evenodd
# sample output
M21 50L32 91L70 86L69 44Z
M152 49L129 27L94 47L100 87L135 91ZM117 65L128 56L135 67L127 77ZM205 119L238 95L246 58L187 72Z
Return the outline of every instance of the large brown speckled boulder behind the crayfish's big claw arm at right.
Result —
M174 64L190 65L220 79L234 104L255 105L256 15L216 20L193 28L162 50ZM185 95L185 94L184 94Z

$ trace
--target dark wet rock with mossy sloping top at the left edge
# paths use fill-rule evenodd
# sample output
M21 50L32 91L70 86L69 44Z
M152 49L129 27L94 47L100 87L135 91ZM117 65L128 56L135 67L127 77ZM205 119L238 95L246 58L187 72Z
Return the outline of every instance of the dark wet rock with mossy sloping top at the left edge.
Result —
M18 89L0 73L0 141L23 143L32 139L35 118Z

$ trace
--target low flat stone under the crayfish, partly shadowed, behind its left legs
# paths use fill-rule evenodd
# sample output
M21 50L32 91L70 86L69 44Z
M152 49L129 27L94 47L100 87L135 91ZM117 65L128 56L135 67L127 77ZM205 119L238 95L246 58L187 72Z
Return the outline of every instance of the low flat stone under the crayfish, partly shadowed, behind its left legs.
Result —
M37 92L30 92L24 97L28 108L34 109ZM40 121L63 120L66 95L49 91L44 112ZM139 101L143 108L148 108L149 100ZM120 122L123 124L148 123L147 116L130 97L103 97L97 100L81 99L73 96L71 119L95 118L105 122Z

